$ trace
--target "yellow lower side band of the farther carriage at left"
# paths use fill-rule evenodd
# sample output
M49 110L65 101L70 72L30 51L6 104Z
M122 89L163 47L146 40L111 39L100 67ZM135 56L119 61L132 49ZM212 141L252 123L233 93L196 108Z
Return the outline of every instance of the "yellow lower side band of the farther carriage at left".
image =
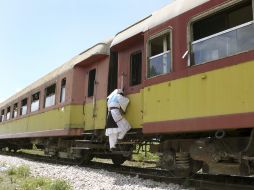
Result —
M80 111L76 110L76 105L69 105L0 124L0 139L40 137L41 134L43 137L50 137L51 131L57 133L57 130L64 131L65 129L81 129L80 131L82 131L83 120L80 119L81 117L77 117ZM71 117L70 113L76 117ZM68 134L63 136L68 136Z

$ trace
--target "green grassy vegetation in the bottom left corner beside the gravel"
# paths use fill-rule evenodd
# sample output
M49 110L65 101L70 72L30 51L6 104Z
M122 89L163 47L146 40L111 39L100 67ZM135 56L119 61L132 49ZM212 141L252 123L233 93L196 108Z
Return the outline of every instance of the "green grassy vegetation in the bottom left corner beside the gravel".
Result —
M32 177L28 166L11 167L0 172L0 190L71 190L63 180Z

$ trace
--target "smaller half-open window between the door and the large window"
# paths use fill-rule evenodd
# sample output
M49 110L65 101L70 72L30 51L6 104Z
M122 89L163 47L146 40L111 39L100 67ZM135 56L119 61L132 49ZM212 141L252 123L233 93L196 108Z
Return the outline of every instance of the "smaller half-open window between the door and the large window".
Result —
M149 40L148 56L148 78L170 72L171 45L168 30Z

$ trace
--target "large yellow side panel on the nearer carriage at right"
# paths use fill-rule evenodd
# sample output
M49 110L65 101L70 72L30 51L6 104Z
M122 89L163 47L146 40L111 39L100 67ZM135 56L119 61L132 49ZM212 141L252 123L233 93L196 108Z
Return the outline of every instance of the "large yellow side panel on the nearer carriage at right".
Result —
M254 111L254 61L144 89L144 122Z

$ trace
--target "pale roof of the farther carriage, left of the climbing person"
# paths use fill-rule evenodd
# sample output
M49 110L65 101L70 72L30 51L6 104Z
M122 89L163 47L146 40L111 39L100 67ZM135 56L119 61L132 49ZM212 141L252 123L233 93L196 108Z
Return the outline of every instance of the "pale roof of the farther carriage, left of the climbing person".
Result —
M78 63L80 63L80 62L82 62L86 59L89 59L92 56L109 55L109 52L110 52L109 47L110 47L110 44L111 44L112 40L113 40L113 37L110 37L110 38L104 40L103 42L98 43L98 44L92 46L91 48L85 50L84 52L80 53L79 55L73 57L70 61L66 62L62 66L56 68L55 70L48 73L44 77L40 78L39 80L35 81L34 83L32 83L28 87L24 88L20 92L16 93L15 95L11 96L10 98L5 100L4 102L0 103L0 107L4 107L4 106L12 103L17 98L19 98L19 97L29 93L30 91L40 87L44 83L47 83L47 82L57 78L59 75L64 74L66 71L72 69Z

